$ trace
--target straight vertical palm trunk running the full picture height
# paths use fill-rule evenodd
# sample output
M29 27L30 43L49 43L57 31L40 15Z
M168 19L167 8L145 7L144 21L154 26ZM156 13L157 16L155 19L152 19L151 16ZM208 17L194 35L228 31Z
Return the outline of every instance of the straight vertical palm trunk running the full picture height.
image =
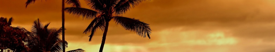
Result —
M64 14L64 8L65 8L65 0L62 0L62 49L63 52L65 52L65 14Z

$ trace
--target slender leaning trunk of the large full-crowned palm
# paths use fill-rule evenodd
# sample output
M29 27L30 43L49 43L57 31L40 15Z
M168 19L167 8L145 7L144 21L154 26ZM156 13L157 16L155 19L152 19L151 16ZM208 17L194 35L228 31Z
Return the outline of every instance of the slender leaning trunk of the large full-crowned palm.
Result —
M104 44L105 44L108 27L109 27L109 21L106 21L105 29L104 29L104 33L103 33L102 42L101 42L101 45L100 45L99 52L103 51L103 47L104 47Z

